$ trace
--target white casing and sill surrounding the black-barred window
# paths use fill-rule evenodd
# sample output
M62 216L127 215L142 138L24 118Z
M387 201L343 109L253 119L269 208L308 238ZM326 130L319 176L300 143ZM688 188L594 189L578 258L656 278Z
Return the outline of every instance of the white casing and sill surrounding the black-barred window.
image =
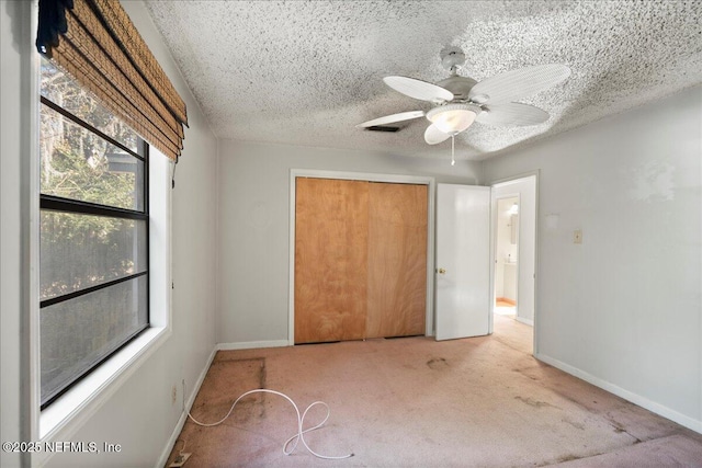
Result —
M174 160L156 147L150 147L149 164L149 307L151 327L115 353L90 375L77 383L45 410L39 408L39 106L41 58L36 54L33 33L37 30L38 4L21 2L21 54L19 64L26 85L20 90L20 101L26 110L20 114L22 122L21 148L27 157L21 161L22 197L22 250L26 264L21 275L26 285L22 288L22 390L26 401L26 424L21 429L22 440L42 444L69 441L77 431L89 423L100 409L140 369L154 364L152 357L162 352L173 335L172 330L172 172ZM44 466L53 453L42 450L25 453L22 463Z

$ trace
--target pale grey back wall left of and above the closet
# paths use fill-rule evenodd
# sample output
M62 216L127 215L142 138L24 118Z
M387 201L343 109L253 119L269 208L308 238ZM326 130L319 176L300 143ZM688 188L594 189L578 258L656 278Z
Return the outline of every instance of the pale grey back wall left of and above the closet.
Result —
M475 184L479 163L220 141L219 343L288 338L290 170L435 176Z

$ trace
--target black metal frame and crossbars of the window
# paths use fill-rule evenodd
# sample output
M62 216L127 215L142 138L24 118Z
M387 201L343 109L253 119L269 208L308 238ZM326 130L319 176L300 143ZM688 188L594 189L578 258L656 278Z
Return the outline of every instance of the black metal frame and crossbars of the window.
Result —
M80 83L77 83L80 85ZM83 87L81 87L82 89L84 89ZM39 184L39 215L43 212L54 212L54 213L63 213L63 214L75 214L75 215L92 215L92 216L101 216L101 217L106 217L106 218L118 218L118 219L133 219L133 220L138 220L138 221L143 221L145 224L146 227L146 249L145 249L145 255L146 259L144 259L144 263L145 263L145 270L140 271L140 272L136 272L133 273L131 275L126 275L126 276L122 276L115 279L111 279L111 281L106 281L104 283L98 284L98 285L93 285L93 286L89 286L86 288L81 288L78 290L73 290L70 293L66 293L66 294L61 294L58 296L53 296L49 297L47 299L43 299L39 300L39 315L41 315L41 310L45 307L50 307L53 305L56 304L60 304L67 300L71 300L78 297L82 297L86 296L88 294L91 293L95 293L98 290L103 290L106 288L110 288L112 286L118 285L121 283L125 283L132 279L137 279L140 277L146 277L146 322L140 324L138 327L138 329L129 334L127 334L126 336L124 336L118 344L116 344L115 346L113 346L106 354L101 354L98 358L95 358L94 361L90 362L88 365L86 365L84 367L82 367L80 369L80 374L70 378L69 380L67 380L67 383L58 390L53 391L52 393L49 393L49 396L46 398L45 401L41 400L39 397L39 410L44 411L45 409L47 409L53 402L55 402L58 398L60 398L64 393L66 393L67 391L69 391L76 384L78 384L79 381L81 381L84 377L87 377L90 373L92 373L93 370L95 370L99 366L101 366L105 361L110 359L110 357L112 357L115 353L118 353L121 350L123 350L127 344L129 344L132 341L134 341L138 335L140 335L144 331L148 330L151 326L151 320L150 320L150 232L149 232L149 144L146 142L146 140L144 140L140 136L137 136L137 150L134 151L129 148L127 148L124 144L117 141L116 139L112 138L111 136L104 134L103 132L99 130L98 128L95 128L94 126L92 126L91 124L89 124L88 122L83 121L82 118L78 117L77 115L72 114L71 112L67 111L66 109L61 107L59 104L55 103L54 101L52 101L50 99L44 96L44 95L39 95L39 103L41 103L41 109L43 110L44 107L48 107L49 110L53 110L57 113L59 113L61 116L68 118L69 121L71 121L72 123L77 124L78 126L80 126L81 128L83 128L84 130L98 136L99 138L105 140L106 142L120 148L121 150L125 151L126 153L128 153L129 156L136 158L137 160L141 161L143 164L143 174L140 176L140 190L141 190L141 207L143 209L126 209L126 208L121 208L121 207L116 207L116 206L109 206L109 205L103 205L103 204L99 204L99 203L91 203L91 202L84 202L84 201L80 201L80 199L73 199L73 198L65 198L65 197L60 197L60 196L55 196L55 195L46 195L44 193L42 193L42 187ZM114 116L114 118L118 118L117 116ZM42 127L39 125L38 127L38 135L39 138L42 137ZM137 178L138 181L138 178ZM39 241L41 241L41 233L39 233ZM41 270L39 270L39 277L41 277ZM39 327L39 333L41 333L41 319L38 320L38 327ZM42 351L39 349L39 363L42 359ZM41 368L39 368L39 386L41 386Z

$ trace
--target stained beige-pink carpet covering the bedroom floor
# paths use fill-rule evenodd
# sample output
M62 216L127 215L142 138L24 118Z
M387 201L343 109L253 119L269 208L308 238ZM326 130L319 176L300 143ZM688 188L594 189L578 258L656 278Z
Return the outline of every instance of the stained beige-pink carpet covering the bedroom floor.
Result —
M309 446L355 455L321 460L302 445L283 455L294 410L256 395L219 426L189 421L169 463L184 444L185 467L702 467L702 435L537 362L531 328L496 316L495 330L219 352L193 416L217 421L252 388L284 392L301 411L322 400L331 416Z

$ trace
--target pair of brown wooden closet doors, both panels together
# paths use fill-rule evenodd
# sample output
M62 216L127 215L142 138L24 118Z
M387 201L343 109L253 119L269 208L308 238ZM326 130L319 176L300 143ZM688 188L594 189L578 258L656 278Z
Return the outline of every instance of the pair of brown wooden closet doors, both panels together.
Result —
M427 185L296 179L295 343L424 333Z

